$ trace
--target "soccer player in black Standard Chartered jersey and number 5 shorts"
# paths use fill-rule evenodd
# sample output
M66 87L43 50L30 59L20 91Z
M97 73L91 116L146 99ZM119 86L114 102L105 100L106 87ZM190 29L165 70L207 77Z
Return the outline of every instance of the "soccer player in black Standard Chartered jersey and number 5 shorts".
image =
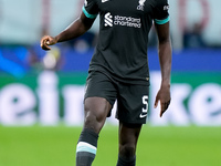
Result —
M76 166L91 166L98 134L117 100L119 121L117 166L136 165L136 146L146 123L149 95L148 33L155 24L161 85L155 107L160 113L170 103L171 44L167 0L85 0L82 13L56 37L45 35L41 46L75 39L85 33L99 14L99 35L90 63L84 97L85 120L76 147Z

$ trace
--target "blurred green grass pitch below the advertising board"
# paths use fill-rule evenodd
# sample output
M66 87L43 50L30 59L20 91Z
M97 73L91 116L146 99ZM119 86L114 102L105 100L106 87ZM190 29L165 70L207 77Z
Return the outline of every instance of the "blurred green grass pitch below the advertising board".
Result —
M117 127L106 125L94 166L115 166ZM0 126L0 166L74 166L81 127ZM219 166L221 127L151 127L145 125L137 166Z

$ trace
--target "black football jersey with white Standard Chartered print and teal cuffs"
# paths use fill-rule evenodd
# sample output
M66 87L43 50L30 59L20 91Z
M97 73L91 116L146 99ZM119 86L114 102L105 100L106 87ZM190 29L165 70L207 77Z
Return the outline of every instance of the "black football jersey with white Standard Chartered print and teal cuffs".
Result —
M149 83L148 33L155 21L169 21L168 0L85 0L83 12L99 14L97 45L90 71L110 74L124 83Z

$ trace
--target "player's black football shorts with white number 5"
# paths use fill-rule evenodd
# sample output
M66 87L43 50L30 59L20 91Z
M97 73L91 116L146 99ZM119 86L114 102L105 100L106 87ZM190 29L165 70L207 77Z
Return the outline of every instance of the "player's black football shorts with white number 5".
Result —
M120 83L106 73L90 72L86 80L85 96L104 97L112 106L117 100L116 118L128 124L145 124L148 114L149 86ZM109 115L110 116L110 112Z

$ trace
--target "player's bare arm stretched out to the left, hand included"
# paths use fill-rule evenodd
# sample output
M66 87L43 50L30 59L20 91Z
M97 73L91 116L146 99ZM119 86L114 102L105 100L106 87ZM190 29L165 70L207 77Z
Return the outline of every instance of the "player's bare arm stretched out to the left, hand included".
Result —
M67 41L71 39L75 39L82 34L84 34L93 24L95 19L88 19L82 12L81 17L76 19L70 27L67 27L64 31L62 31L56 37L44 35L41 39L41 48L43 50L50 50L49 45L56 44L57 42Z

